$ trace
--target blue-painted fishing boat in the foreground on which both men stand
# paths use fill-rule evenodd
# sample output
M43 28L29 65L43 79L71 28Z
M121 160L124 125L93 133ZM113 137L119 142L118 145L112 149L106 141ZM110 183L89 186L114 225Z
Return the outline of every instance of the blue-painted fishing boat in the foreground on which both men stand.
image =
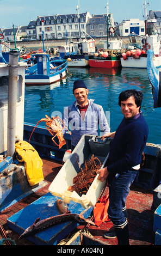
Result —
M17 54L17 52L12 54ZM35 125L23 123L25 64L20 62L17 65L15 61L9 63L10 65L0 64L1 82L4 76L8 78L10 74L15 78L16 74L12 72L15 72L16 69L18 69L18 79L15 80L11 77L7 79L3 84L3 94L0 96L1 120L4 121L0 132L1 138L5 142L1 142L0 145L0 155L2 156L0 163L1 245L4 243L7 243L7 245L58 245L53 249L56 249L57 252L60 250L60 253L63 250L60 245L63 245L63 243L71 246L94 245L95 247L97 245L117 245L117 239L107 240L103 237L104 232L112 227L110 221L103 222L99 226L92 224L87 226L84 223L79 224L75 220L65 220L65 222L46 227L37 234L30 235L22 240L18 239L26 228L33 225L37 218L40 217L41 220L45 220L57 216L59 212L56 202L60 198L64 198L65 201L69 200L67 205L73 214L82 214L85 218L91 220L93 205L99 198L96 190L100 187L101 181L97 182L95 180L95 184L92 184L92 193L89 192L84 199L76 193L72 192L71 194L71 192L67 193L64 190L71 185L70 169L72 169L72 173L78 172L79 164L83 168L85 160L88 160L92 154L100 160L103 157L102 161L106 160L105 151L108 153L111 139L106 139L103 142L100 136L84 135L71 154L68 152L71 147L69 133L66 133L64 137L66 144L59 149L52 141L52 135L47 128L38 125L34 130L30 144L38 151L42 159L44 181L35 186L29 186L24 163L21 159L20 162L15 162L17 160L14 155L15 138L29 142ZM9 72L9 69L12 69L12 72ZM17 85L18 90L15 92ZM9 94L7 93L8 88ZM55 139L58 142L58 139ZM139 175L135 179L127 198L130 227L129 241L131 245L161 245L160 153L161 145L146 144L144 165L140 168ZM66 154L69 154L69 156L64 161ZM61 175L62 173L63 175ZM53 195L55 193L58 193L58 195ZM84 230L87 230L88 234L82 234ZM81 236L83 236L83 239Z

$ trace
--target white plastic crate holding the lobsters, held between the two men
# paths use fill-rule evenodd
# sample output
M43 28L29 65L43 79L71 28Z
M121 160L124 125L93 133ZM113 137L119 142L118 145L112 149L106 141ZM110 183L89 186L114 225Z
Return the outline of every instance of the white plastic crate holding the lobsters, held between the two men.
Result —
M53 196L62 198L67 204L70 200L81 204L85 209L89 206L94 206L97 202L100 193L106 184L106 181L101 182L96 178L92 182L88 192L79 196L75 191L67 191L69 186L73 185L73 178L85 166L85 160L88 161L92 154L98 157L102 163L102 167L107 161L111 139L101 141L100 136L83 135L75 150L73 150L69 159L66 160L64 166L60 169L59 173L49 186L49 191ZM79 164L80 166L79 166Z

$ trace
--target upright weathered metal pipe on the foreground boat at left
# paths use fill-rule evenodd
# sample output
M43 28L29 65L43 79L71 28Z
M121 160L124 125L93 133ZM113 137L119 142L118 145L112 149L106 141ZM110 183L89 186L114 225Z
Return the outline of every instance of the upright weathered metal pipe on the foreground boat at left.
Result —
M15 152L16 139L18 56L17 51L9 52L7 155L11 157Z

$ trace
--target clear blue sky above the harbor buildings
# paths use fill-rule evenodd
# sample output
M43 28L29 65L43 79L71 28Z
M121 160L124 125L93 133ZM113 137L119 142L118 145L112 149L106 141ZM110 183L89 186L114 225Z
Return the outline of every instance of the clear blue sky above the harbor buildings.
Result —
M79 0L80 13L106 14L107 0ZM114 21L144 20L143 0L109 0L109 13ZM161 0L147 0L149 10L161 11ZM77 13L78 0L0 0L0 28L27 26L37 16Z

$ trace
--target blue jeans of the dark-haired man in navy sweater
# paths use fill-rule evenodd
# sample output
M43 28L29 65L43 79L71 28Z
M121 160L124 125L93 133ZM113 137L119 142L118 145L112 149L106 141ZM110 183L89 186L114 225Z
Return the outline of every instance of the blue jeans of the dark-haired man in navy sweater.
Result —
M109 207L108 217L115 227L121 227L127 220L123 210L126 209L126 198L129 193L129 187L137 175L138 170L128 170L122 172L116 178L109 174Z

